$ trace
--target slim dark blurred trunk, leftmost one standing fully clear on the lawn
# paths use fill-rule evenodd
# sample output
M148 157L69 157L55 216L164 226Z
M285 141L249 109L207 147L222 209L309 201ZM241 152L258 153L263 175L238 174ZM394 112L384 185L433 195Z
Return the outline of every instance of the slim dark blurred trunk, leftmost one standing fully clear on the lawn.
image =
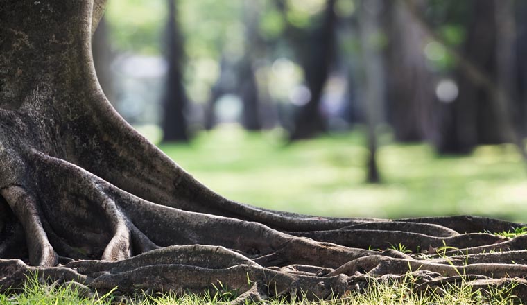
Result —
M188 141L187 94L182 79L183 39L179 30L175 1L167 0L169 14L166 26L166 58L169 70L163 100L163 141Z

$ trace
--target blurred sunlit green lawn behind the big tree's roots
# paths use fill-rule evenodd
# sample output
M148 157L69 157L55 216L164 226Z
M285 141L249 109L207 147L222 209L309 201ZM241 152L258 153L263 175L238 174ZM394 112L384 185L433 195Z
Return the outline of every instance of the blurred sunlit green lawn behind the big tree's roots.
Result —
M360 132L285 146L279 132L223 128L190 146L160 146L200 182L227 198L320 216L401 218L472 214L527 222L527 174L510 145L439 157L426 144L384 137L383 184L365 184Z

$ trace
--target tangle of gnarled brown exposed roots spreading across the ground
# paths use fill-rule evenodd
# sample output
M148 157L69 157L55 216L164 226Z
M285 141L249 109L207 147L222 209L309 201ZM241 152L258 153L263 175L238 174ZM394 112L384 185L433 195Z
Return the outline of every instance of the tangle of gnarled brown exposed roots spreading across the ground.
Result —
M419 276L416 291L421 291L460 281L474 288L510 281L523 285L516 278L527 274L526 237L452 229L467 219L465 228L473 229L485 223L497 231L521 224L463 217L427 218L431 223L420 218L330 220L331 229L280 232L258 222L149 202L64 159L31 154L40 171L55 175L35 175L28 185L67 191L30 195L22 186L1 191L6 200L1 207L20 221L24 235L18 240L27 244L28 263L35 266L0 260L3 287L20 286L31 272L59 284L74 281L83 291L119 287L125 295L138 290L203 293L219 281L239 294L232 304L243 304L306 293L309 299L345 296L364 289L365 279ZM297 219L300 227L324 221ZM17 232L18 223L8 220L2 218L1 234ZM342 227L335 229L338 223ZM8 258L15 239L0 243L0 257ZM377 248L388 250L371 250ZM401 252L410 250L413 254ZM523 294L522 289L515 291Z

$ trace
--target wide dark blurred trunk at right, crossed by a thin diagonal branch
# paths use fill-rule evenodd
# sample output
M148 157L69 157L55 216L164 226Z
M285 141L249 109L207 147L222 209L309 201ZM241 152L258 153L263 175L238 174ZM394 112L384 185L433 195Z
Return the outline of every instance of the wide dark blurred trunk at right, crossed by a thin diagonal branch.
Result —
M496 27L493 0L472 0L467 17L467 40L463 45L467 60L479 67L490 79L496 75ZM458 98L438 106L439 153L469 153L478 143L501 143L501 127L496 127L495 96L490 90L466 77L463 67L456 71Z

